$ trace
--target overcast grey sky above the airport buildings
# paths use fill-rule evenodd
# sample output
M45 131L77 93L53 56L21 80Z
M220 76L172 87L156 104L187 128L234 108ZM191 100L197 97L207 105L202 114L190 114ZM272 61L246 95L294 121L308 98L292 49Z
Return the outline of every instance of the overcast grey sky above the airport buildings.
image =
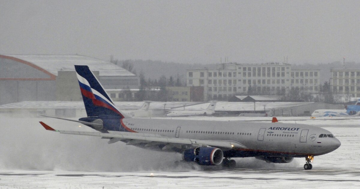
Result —
M360 1L0 0L0 54L360 62ZM224 61L224 58L222 58Z

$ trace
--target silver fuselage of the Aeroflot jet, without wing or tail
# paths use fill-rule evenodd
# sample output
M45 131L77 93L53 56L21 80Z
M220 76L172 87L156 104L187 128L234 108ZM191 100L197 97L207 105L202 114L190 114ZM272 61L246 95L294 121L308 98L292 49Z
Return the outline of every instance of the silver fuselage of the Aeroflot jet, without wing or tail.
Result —
M131 132L200 140L233 140L246 146L224 151L224 156L228 157L318 156L340 146L340 141L334 137L319 138L321 134L333 136L329 131L302 124L123 118L122 125L125 127L120 131L126 131L127 127Z

